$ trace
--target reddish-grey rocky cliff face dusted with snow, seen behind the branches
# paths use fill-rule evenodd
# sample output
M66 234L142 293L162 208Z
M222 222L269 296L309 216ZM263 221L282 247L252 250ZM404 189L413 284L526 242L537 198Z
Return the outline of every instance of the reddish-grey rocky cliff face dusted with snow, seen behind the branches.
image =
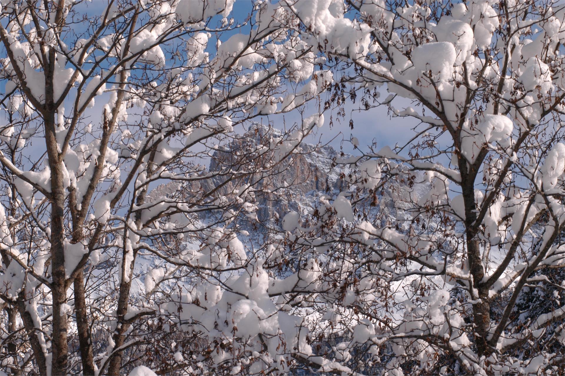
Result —
M264 144L272 136L280 136L277 129L253 124L242 136L234 137L230 144L216 150L212 155L209 171L219 172L226 166L233 165L233 162L241 160L234 156L241 157L246 149L251 145ZM299 145L300 152L293 154L292 158L283 161L275 168L273 174L256 182L254 187L258 189L256 195L257 206L259 208L257 219L264 226L280 226L280 218L284 217L290 210L298 213L308 211L315 203L319 195L337 195L340 192L344 181L340 176L349 174L349 170L344 166L334 166L336 158L342 157L331 146L316 146L302 143ZM345 155L347 157L347 155ZM246 179L253 179L254 176ZM207 192L218 187L217 195L228 195L244 181L228 181L220 177L201 180L191 183L186 192ZM150 200L159 196L172 195L179 189L176 183L162 184L150 192ZM265 193L269 192L269 193ZM272 193L271 193L272 192ZM405 209L410 202L410 191L403 184L390 183L379 192L376 209L388 217L394 215L397 208ZM370 202L360 203L363 206L370 206ZM374 205L374 202L373 202ZM203 219L206 214L202 214ZM384 223L383 223L384 224ZM245 227L245 226L244 226Z

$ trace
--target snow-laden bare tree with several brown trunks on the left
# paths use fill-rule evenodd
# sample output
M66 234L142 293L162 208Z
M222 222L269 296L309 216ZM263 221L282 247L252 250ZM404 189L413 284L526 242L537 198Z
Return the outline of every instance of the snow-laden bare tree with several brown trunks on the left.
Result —
M264 249L238 221L323 115L216 150L248 120L316 102L332 74L279 6L244 3L235 21L232 0L102 5L1 2L2 370L235 370L230 317L268 300L247 257ZM149 195L158 184L168 194Z

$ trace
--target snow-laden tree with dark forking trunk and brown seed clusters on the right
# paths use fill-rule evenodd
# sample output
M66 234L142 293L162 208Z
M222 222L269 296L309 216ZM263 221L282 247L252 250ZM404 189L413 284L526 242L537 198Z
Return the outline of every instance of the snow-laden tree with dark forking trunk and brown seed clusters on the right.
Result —
M390 374L563 373L563 5L286 4L340 62L349 86L332 100L386 106L415 131L394 149L352 139L362 155L336 160L349 186L286 228L297 254L315 250L308 265L323 260L306 289L339 317L328 355ZM390 189L404 195L383 215ZM528 306L532 289L546 304Z

